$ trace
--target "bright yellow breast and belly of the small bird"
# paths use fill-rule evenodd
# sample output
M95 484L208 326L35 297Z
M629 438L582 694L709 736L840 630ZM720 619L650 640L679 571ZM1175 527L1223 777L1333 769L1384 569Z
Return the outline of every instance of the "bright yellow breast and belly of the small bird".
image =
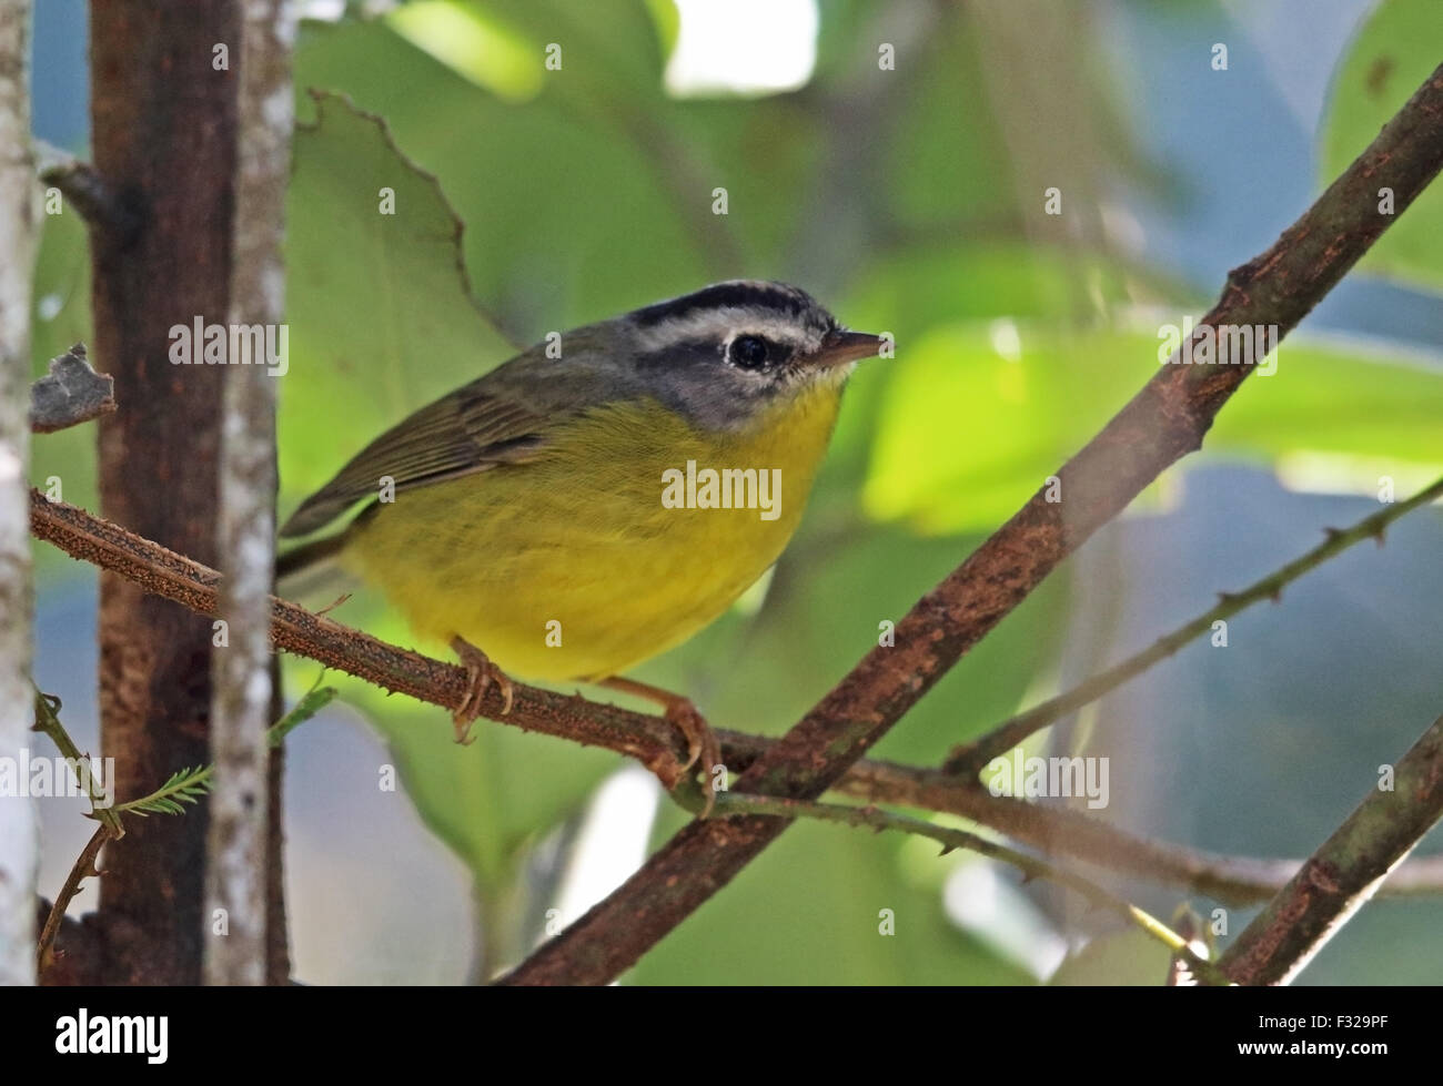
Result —
M460 635L535 679L616 675L690 637L776 561L838 398L820 388L722 437L655 404L610 407L560 430L534 462L395 495L355 529L342 562L421 637ZM756 469L758 482L766 472L779 492L749 479L734 503L765 496L775 511L664 505L664 492L671 503L707 502L706 469Z

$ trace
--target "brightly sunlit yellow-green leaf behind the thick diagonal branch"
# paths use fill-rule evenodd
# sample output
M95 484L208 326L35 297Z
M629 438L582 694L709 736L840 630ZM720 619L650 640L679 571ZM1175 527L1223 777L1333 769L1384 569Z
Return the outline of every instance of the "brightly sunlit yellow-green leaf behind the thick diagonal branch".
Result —
M1013 322L938 327L903 345L880 408L867 511L925 532L994 528L1143 387L1162 345L1136 332ZM1209 454L1274 467L1381 457L1410 477L1436 477L1443 372L1306 337L1284 340L1276 359L1274 375L1248 378L1219 414ZM1342 473L1333 482L1354 489Z

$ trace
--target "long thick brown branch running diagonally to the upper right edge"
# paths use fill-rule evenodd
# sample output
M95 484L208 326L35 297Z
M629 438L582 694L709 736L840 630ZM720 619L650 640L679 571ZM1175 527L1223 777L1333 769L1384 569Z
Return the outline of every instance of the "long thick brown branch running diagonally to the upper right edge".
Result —
M1378 190L1404 212L1443 167L1443 66L1312 208L1248 264L1193 332L1296 327L1391 225ZM1186 453L1257 359L1170 359L1072 460L896 626L736 783L739 790L814 799L838 780L988 630L1101 525ZM1190 342L1179 348L1190 350ZM1192 355L1189 355L1190 358ZM1061 500L1049 500L1056 489ZM586 916L541 946L509 984L608 984L726 886L789 819L693 822Z

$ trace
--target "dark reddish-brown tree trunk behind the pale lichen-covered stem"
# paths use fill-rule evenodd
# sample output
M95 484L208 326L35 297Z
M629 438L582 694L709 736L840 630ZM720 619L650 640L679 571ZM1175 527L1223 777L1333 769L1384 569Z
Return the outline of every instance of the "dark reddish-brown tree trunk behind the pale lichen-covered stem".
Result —
M240 29L234 0L91 4L95 169L130 213L91 231L94 355L120 404L100 425L101 512L209 565L224 368L173 365L170 329L227 322ZM111 574L100 596L101 746L134 798L209 760L212 626ZM206 806L127 829L102 864L104 978L198 984Z

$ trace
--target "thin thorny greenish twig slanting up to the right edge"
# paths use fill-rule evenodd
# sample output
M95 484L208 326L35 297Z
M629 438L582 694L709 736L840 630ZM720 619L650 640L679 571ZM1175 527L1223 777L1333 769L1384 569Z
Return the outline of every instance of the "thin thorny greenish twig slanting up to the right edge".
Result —
M1141 652L1128 656L1121 663L1117 663L1107 671L1079 682L1072 689L1065 691L1055 698L1049 698L1026 712L1019 712L1016 717L990 728L984 736L973 740L971 743L962 743L954 747L947 756L947 761L942 763L942 769L948 773L975 773L981 770L988 761L1006 754L1035 731L1040 731L1059 717L1065 717L1068 712L1097 701L1121 687L1128 679L1141 675L1159 661L1172 656L1193 637L1201 637L1203 633L1211 630L1212 623L1231 619L1238 612L1242 612L1261 600L1277 601L1281 599L1283 588L1286 586L1296 581L1309 570L1316 570L1329 558L1346 551L1354 544L1362 542L1364 539L1377 539L1382 544L1384 531L1390 524L1413 509L1429 505L1440 496L1443 496L1443 479L1439 479L1436 483L1420 490L1405 502L1384 506L1378 512L1365 516L1352 528L1343 531L1339 531L1338 528L1326 528L1325 532L1328 538L1312 551L1300 558L1294 558L1276 573L1254 581L1242 591L1218 593L1218 604L1215 607L1203 612L1192 622L1183 623L1172 633L1163 635Z

